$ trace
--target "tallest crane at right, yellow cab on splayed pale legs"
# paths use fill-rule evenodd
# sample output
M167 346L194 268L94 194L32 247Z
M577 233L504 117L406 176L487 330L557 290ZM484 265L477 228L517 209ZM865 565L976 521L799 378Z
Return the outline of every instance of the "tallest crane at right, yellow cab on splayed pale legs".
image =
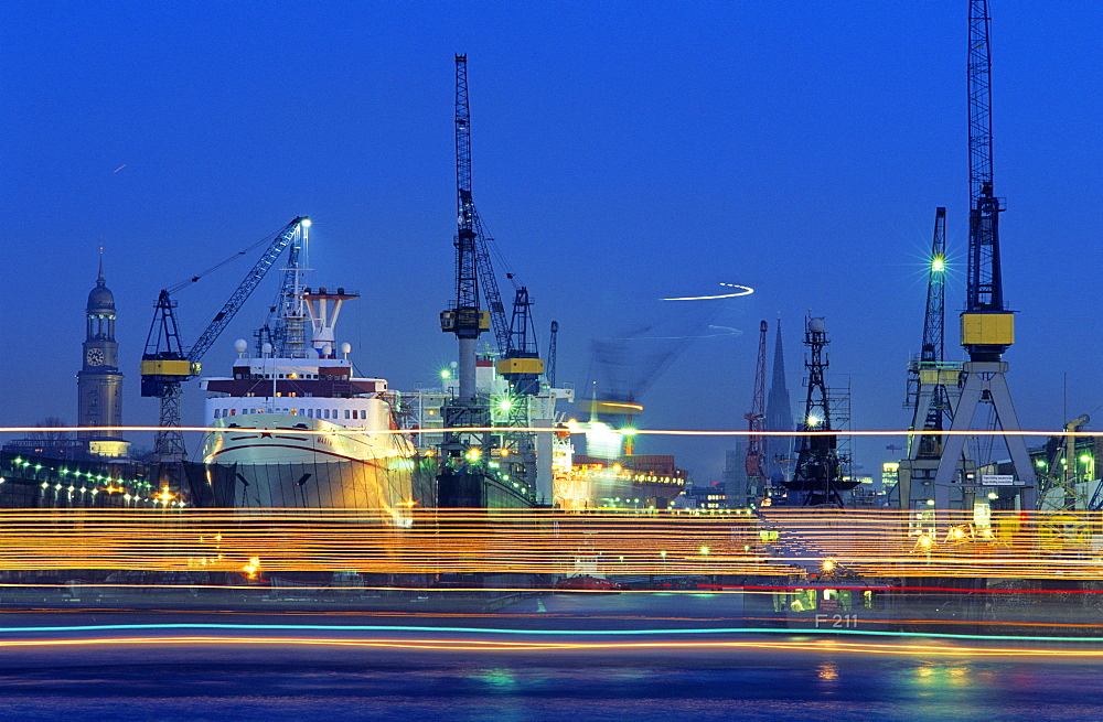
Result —
M1007 363L1003 354L1015 341L1015 317L1004 303L999 260L999 214L1005 206L993 186L992 153L992 19L987 0L970 0L968 17L968 155L970 223L965 311L961 314L962 346L968 360L962 365L961 400L954 412L934 479L935 506L950 508L951 487L959 476L959 460L979 403L990 403L1004 432L1019 430L1018 417L1007 388ZM1037 507L1034 466L1020 435L1005 435L1022 508ZM962 484L963 508L973 508L978 489Z

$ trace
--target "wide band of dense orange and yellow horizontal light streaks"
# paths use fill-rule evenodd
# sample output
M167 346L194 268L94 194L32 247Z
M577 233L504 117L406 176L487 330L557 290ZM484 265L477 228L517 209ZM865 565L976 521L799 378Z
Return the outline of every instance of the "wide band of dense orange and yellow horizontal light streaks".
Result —
M569 575L583 554L610 575L801 578L829 560L865 578L1103 580L1096 513L994 511L977 527L960 510L731 511L418 509L406 529L357 510L10 509L0 510L0 569Z

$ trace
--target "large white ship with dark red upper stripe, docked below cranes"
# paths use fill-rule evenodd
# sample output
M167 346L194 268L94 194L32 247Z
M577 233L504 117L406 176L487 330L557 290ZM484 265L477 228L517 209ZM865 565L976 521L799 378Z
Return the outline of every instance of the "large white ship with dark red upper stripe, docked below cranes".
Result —
M292 265L293 266L293 265ZM347 343L335 341L344 288L300 287L289 270L282 315L245 340L226 377L204 377L203 460L233 465L235 508L356 509L408 527L431 504L430 477L395 421L398 395L383 378L356 375ZM306 330L311 340L306 343Z

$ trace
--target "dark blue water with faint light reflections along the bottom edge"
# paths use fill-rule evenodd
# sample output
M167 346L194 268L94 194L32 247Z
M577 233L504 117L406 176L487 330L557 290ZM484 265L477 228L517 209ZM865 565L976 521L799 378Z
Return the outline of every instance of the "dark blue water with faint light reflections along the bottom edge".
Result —
M1097 719L1096 667L835 653L707 658L381 655L362 664L0 668L6 719Z

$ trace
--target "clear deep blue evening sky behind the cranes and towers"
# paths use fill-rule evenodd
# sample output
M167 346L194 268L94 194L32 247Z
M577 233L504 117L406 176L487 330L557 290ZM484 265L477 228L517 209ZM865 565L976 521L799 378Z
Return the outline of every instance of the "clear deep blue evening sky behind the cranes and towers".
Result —
M1020 312L1005 358L1024 425L1057 429L1103 406L1103 9L992 4L995 187ZM360 369L399 389L431 380L454 358L437 316L453 293L464 52L475 202L536 300L542 347L560 323L560 380L587 394L592 340L654 325L695 337L646 384L641 425L742 429L759 321L781 314L795 411L811 310L826 316L831 379L852 386L854 428L907 428L939 205L955 270L947 351L961 357L966 15L964 0L8 2L0 423L75 421L100 241L125 419L153 423L138 360L159 289L297 215L314 222L311 283L364 294L339 328ZM254 258L178 295L185 342ZM756 293L707 316L658 301L720 282ZM255 294L207 371L228 370L272 292ZM184 421L199 422L203 395L185 396ZM705 483L730 443L639 451L675 452ZM859 440L858 461L889 460L887 443Z

